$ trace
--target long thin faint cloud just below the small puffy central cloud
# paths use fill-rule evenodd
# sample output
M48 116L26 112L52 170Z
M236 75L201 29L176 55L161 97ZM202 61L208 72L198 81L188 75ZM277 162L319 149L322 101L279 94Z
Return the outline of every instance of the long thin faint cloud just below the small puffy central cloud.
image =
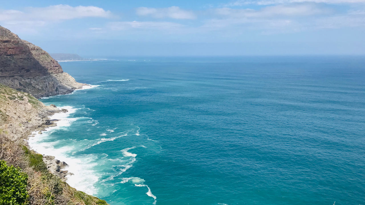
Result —
M110 22L107 24L108 28L112 30L127 30L131 28L135 29L174 29L183 27L182 24L172 22Z

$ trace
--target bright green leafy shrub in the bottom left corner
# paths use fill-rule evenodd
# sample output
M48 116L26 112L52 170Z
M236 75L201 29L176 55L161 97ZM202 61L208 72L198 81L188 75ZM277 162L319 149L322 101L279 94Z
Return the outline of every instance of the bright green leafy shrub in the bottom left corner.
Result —
M0 204L23 205L28 197L28 175L0 160Z

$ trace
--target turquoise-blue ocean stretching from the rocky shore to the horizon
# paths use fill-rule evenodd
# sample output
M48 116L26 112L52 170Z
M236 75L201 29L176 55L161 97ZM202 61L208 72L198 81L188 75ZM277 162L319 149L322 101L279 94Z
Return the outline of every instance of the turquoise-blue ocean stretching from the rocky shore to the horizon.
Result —
M30 138L111 205L365 204L365 57L61 62L92 86Z

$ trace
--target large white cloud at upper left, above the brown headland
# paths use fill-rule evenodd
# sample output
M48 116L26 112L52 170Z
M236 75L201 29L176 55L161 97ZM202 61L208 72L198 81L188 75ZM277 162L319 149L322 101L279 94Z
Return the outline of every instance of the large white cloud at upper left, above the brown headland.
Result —
M47 22L59 22L64 20L99 17L110 18L110 11L94 6L52 5L49 7L34 8L29 7L24 11L0 10L0 22L4 24L24 24L45 25ZM38 22L38 23L37 23Z

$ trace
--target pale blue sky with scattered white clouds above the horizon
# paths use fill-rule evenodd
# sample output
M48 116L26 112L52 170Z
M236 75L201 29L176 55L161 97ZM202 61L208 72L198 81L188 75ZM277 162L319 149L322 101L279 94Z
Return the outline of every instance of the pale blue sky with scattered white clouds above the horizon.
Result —
M0 25L82 57L365 55L365 0L12 0Z

